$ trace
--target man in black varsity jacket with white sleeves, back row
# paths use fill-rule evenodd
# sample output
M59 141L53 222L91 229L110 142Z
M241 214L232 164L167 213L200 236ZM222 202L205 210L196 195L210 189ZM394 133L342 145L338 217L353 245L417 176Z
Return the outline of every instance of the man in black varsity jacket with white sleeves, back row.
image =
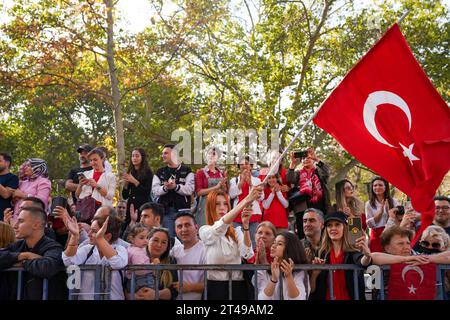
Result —
M174 145L164 145L162 158L165 167L153 176L152 193L164 206L163 226L175 237L175 218L178 210L191 208L191 196L195 190L195 176L191 168L178 164Z

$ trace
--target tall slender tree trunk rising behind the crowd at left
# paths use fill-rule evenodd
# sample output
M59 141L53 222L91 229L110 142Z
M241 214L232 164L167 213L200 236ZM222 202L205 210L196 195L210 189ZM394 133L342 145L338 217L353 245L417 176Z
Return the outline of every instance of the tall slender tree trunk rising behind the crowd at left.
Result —
M123 172L125 168L125 138L123 132L122 109L120 106L119 81L117 80L115 54L114 54L114 18L113 0L104 0L106 4L106 21L108 30L107 60L109 81L112 93L112 110L114 115L114 131L116 135L117 170Z

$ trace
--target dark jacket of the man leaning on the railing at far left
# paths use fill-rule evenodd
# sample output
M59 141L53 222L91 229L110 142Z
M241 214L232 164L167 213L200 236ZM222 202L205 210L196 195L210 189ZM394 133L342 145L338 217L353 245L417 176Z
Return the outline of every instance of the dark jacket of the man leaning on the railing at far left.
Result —
M43 236L34 248L28 248L25 240L18 240L7 248L0 249L0 270L11 268L17 263L21 252L32 252L42 258L23 262L22 299L42 300L43 279L48 281L48 299L65 300L68 297L67 274L62 261L62 246ZM17 294L17 272L1 272L2 282L10 286L6 299L15 299Z

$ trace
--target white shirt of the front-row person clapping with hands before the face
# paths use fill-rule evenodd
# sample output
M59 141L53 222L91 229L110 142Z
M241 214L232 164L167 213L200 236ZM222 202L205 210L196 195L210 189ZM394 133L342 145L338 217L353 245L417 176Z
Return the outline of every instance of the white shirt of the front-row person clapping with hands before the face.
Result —
M112 247L114 250L117 251L117 255L106 258L103 256L103 258L100 258L100 254L98 252L97 247L94 248L94 251L92 252L92 255L89 257L89 259L86 260L87 255L89 251L92 248L92 244L85 245L81 248L78 248L77 253L72 256L68 257L63 252L62 253L62 259L64 262L64 265L70 266L70 265L81 265L86 260L86 263L84 264L97 264L97 265L104 265L104 266L110 266L113 269L122 269L125 268L128 264L128 253L127 249L125 249L123 246L112 244ZM82 271L81 272L81 290L79 299L80 300L94 300L94 293L95 292L95 271ZM122 287L122 277L119 274L119 271L113 271L112 272L112 278L111 278L111 300L124 300L125 296L123 294L123 287Z

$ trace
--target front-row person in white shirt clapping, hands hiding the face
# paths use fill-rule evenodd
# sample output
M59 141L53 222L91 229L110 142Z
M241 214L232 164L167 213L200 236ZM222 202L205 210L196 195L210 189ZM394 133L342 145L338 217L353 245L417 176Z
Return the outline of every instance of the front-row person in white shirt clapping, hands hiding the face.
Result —
M70 232L66 250L62 254L64 265L105 265L112 269L122 269L128 264L127 249L114 242L119 238L121 220L117 216L94 218L89 231L89 244L78 248L80 237L75 217L63 215L63 221ZM95 295L95 272L81 273L81 300L93 300ZM120 271L113 271L111 278L111 300L124 300Z

